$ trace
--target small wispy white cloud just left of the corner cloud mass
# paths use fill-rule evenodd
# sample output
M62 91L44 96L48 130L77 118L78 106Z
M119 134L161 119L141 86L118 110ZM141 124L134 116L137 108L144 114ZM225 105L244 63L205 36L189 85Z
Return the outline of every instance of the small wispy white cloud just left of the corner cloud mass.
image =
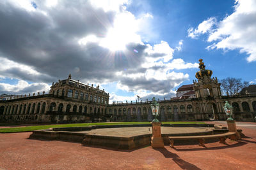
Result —
M204 20L201 24L198 25L196 29L193 27L188 29L188 36L191 38L197 38L200 34L205 34L206 32L211 32L212 27L216 25L216 18L211 17L207 20Z

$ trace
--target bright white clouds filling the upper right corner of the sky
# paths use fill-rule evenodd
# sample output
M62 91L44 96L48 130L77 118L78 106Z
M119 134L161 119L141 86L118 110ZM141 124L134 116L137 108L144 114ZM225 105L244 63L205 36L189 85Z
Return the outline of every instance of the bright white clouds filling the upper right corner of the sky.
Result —
M205 21L201 24L204 25L204 23ZM207 46L207 49L238 49L241 53L249 55L246 58L248 62L256 61L256 1L237 0L231 15L217 24L215 22L210 23L205 31L189 29L189 36L196 38L200 34L209 34L207 41L212 45ZM212 27L213 24L216 25L216 29Z

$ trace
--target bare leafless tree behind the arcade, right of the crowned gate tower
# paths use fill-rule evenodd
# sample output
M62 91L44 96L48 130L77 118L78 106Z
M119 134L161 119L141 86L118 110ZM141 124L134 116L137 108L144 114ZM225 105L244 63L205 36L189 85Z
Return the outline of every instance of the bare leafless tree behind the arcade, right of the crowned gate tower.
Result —
M235 95L238 94L244 87L248 87L249 82L243 81L241 78L225 78L220 80L221 90L224 94Z

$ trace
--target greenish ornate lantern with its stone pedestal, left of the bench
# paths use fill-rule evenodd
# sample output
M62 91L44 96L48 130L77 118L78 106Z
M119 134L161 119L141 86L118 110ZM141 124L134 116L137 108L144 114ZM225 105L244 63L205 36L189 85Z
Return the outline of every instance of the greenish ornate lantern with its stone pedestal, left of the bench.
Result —
M151 124L152 124L151 146L152 146L152 148L163 148L164 141L161 136L161 122L159 122L159 120L157 120L159 103L157 103L155 97L153 97L152 104L150 106L152 109L152 115L156 115L155 119L151 122Z

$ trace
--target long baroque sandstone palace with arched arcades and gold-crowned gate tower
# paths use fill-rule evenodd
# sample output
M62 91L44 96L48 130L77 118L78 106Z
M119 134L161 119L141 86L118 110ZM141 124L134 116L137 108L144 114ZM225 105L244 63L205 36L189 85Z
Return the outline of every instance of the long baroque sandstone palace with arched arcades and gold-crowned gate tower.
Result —
M218 78L205 69L199 60L200 71L191 85L183 85L177 96L159 101L160 121L225 120L225 101L233 106L237 121L253 121L256 116L256 94L242 93L222 96ZM254 87L253 87L254 88ZM252 87L250 87L252 89ZM249 91L247 89L247 91ZM52 83L49 94L15 97L0 101L1 122L91 122L91 121L151 121L151 101L109 104L109 94L97 87L72 80Z

